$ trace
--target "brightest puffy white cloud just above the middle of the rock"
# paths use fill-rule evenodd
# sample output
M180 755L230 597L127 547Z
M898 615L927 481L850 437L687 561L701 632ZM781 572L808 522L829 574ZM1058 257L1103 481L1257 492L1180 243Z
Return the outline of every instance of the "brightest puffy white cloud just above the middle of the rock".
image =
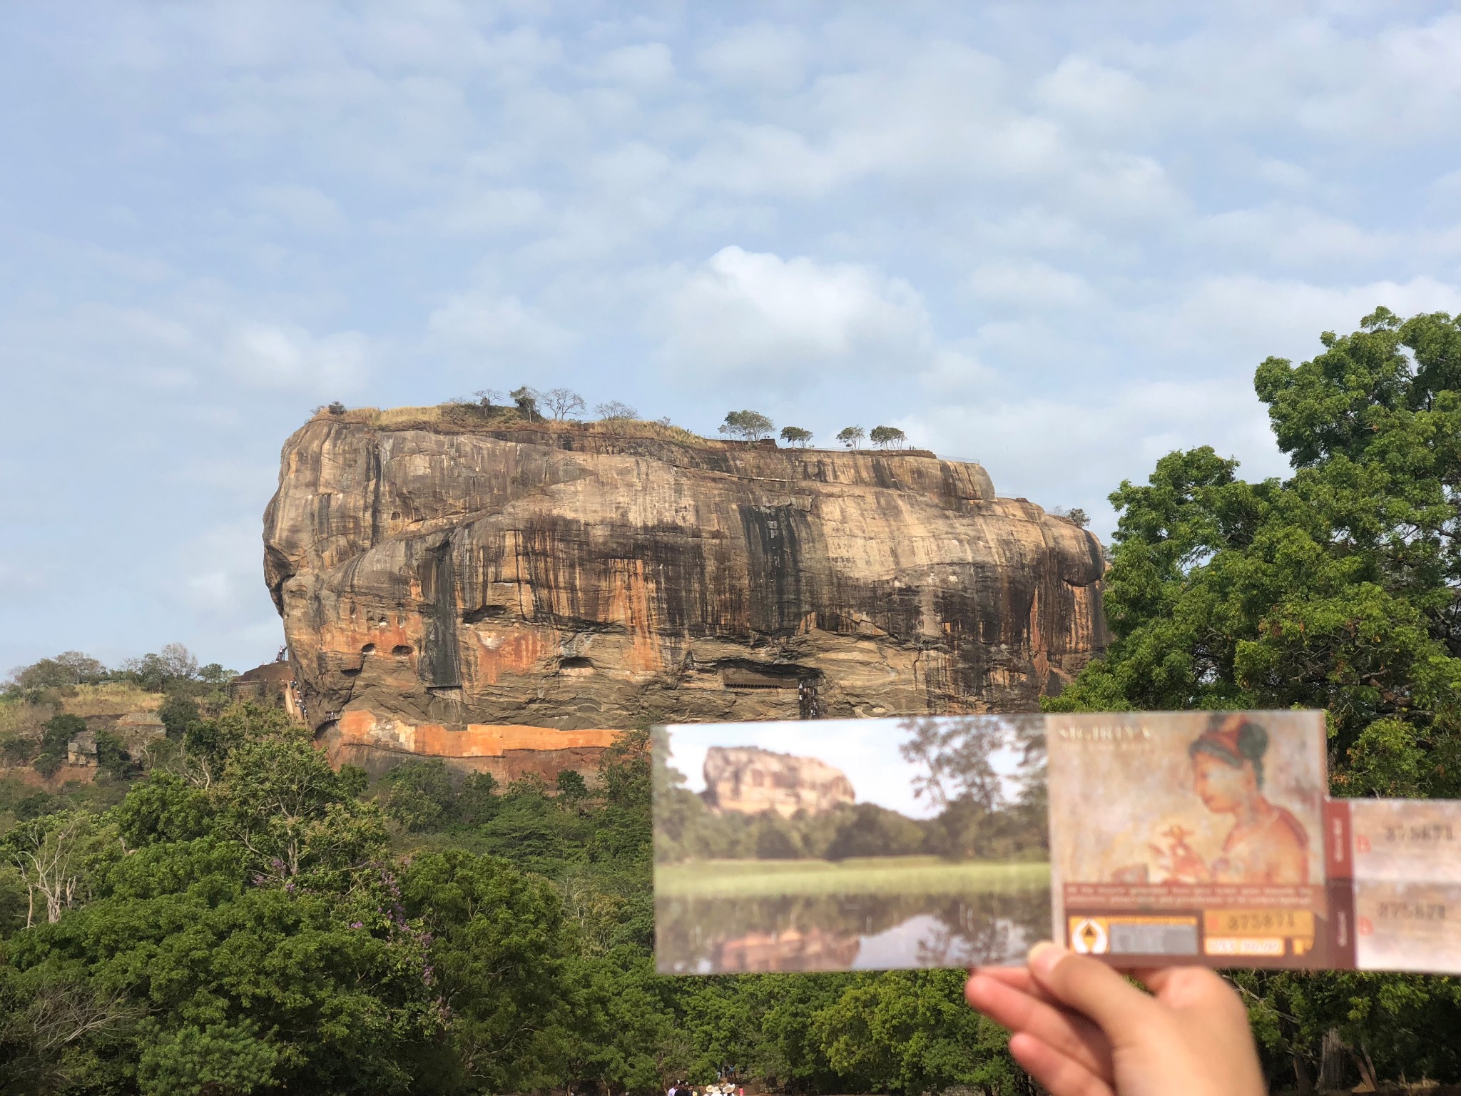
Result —
M685 272L656 326L666 364L700 383L796 386L808 367L894 370L931 348L923 301L903 279L733 246Z

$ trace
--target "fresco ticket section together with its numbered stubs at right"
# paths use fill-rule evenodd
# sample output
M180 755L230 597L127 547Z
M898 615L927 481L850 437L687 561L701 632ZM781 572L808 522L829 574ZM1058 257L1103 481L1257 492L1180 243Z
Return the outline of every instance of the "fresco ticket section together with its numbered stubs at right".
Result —
M1461 972L1461 804L1328 799L1322 712L1048 720L1052 912L1072 950Z

